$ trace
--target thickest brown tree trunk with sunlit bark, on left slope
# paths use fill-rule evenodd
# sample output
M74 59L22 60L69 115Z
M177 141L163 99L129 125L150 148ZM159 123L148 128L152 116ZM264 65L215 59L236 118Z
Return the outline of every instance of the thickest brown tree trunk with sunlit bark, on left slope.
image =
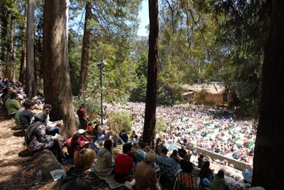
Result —
M68 0L45 1L43 22L45 103L53 105L50 120L63 120L65 138L77 130L69 73L68 6Z

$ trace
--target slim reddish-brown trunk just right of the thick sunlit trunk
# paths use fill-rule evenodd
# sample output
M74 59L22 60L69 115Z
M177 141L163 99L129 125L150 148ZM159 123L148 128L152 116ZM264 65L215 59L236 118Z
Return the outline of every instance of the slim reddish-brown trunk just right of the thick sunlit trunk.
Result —
M88 83L88 67L89 67L89 38L90 38L90 28L89 20L92 18L92 4L90 1L86 2L86 14L84 17L84 36L83 36L83 46L82 46L82 57L81 57L81 70L80 70L80 87L79 87L79 97L85 95Z

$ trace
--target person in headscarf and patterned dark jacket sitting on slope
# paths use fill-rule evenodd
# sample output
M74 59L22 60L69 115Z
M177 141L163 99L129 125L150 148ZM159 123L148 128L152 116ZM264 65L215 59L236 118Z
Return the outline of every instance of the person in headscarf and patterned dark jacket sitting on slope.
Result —
M45 133L46 118L48 116L41 112L34 117L34 121L26 130L26 145L32 152L38 152L43 149L50 149L58 162L62 162L60 146L55 136Z

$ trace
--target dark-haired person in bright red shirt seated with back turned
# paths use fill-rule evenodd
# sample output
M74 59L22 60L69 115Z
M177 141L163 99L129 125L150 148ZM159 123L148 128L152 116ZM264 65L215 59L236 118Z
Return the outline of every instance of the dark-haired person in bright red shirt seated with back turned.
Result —
M120 184L124 184L125 181L132 181L131 171L134 169L133 159L129 157L131 153L132 145L124 144L123 154L118 154L114 164L114 179Z

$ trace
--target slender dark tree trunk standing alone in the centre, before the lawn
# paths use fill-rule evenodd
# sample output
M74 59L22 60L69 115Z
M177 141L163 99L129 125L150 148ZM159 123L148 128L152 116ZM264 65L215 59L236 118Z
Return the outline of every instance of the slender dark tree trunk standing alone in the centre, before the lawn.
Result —
M145 122L143 142L150 146L155 138L155 109L157 105L158 75L158 0L149 0L149 50L148 50L148 83L146 92Z

